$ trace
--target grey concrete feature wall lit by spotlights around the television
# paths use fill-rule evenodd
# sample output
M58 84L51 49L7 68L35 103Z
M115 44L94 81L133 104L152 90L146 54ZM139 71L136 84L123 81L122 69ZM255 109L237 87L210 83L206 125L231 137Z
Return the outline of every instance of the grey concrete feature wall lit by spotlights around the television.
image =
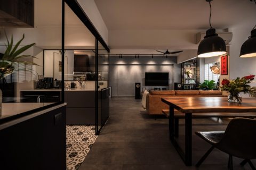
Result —
M169 72L169 87L173 89L174 82L181 82L181 65L177 57L110 57L109 86L112 96L135 96L135 82L145 86L145 72ZM154 89L153 86L146 87ZM158 87L159 88L159 87Z

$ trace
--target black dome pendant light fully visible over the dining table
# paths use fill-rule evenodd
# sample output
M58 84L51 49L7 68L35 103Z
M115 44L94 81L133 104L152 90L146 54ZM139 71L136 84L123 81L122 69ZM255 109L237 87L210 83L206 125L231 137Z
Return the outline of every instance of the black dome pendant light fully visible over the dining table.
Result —
M211 7L212 0L206 0L210 4L210 29L206 31L206 36L200 42L198 49L197 49L197 57L214 57L227 54L226 50L226 43L225 41L218 36L215 29L212 28L211 25L211 14L212 14L212 7Z

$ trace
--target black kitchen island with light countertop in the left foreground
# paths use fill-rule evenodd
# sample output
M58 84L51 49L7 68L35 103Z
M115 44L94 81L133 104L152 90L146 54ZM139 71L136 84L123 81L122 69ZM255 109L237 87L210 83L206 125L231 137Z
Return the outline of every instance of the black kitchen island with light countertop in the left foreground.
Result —
M2 103L1 169L66 169L66 104L51 104Z

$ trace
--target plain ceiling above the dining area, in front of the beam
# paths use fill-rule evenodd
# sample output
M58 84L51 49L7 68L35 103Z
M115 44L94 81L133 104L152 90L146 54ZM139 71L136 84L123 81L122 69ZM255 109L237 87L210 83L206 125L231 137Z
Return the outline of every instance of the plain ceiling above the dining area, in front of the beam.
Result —
M209 3L205 0L94 0L108 30L207 29ZM226 29L255 21L256 5L250 0L214 0L212 26Z

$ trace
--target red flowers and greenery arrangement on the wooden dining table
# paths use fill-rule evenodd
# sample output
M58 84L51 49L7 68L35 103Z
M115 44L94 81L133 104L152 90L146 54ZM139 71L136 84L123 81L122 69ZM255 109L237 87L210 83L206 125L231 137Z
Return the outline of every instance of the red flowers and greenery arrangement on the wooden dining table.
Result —
M243 78L237 77L234 80L223 79L220 87L221 91L228 91L228 101L241 103L242 97L240 92L249 94L249 96L256 97L256 87L251 87L249 84L254 80L255 75L247 75Z

